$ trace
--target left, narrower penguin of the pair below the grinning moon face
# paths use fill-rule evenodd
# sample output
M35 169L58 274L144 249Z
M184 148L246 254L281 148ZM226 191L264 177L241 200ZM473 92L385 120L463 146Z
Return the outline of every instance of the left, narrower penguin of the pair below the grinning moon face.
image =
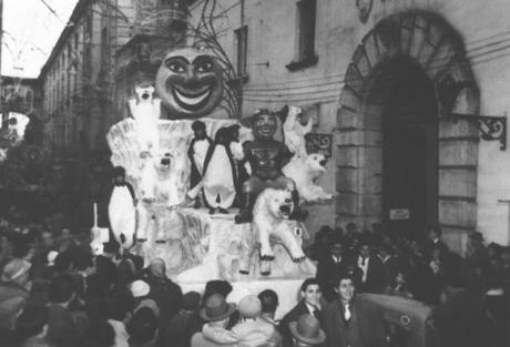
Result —
M192 124L192 130L194 132L193 140L190 144L190 149L187 150L187 156L190 157L191 162L191 175L190 175L190 191L193 192L194 190L200 188L197 185L201 183L203 174L204 174L204 162L207 151L211 146L213 140L207 136L205 131L205 123L201 121L195 121ZM195 192L198 195L198 192ZM192 195L192 194L188 194ZM200 198L198 196L194 196L195 198L195 208L200 207Z

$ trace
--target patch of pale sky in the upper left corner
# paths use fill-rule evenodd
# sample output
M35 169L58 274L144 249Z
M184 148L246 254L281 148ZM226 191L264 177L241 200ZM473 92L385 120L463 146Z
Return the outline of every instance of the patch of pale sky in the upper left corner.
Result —
M76 2L3 0L2 75L39 76Z

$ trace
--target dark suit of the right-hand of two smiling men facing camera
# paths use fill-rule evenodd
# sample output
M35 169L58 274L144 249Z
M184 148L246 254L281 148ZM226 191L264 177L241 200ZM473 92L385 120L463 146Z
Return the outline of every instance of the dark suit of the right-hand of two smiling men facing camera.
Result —
M382 313L379 307L360 298L353 298L348 323L339 299L329 304L322 316L327 347L385 347L386 336Z

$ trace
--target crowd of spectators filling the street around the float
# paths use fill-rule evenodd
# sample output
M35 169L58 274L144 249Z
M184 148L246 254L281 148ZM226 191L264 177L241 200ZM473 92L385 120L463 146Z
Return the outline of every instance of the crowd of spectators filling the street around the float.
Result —
M0 220L0 346L406 346L406 330L358 293L419 300L436 346L508 346L510 248L469 237L465 257L441 229L412 239L373 225L324 226L306 248L317 262L300 300L276 320L278 295L225 280L182 293L165 263L120 252L93 256L89 234ZM54 221L53 221L54 222Z

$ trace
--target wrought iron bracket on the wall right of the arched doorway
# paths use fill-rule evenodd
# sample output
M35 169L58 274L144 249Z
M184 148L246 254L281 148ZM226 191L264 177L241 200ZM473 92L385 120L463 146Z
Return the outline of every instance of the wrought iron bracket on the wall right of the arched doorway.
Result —
M478 126L480 131L480 137L486 141L499 141L501 146L500 150L507 150L507 115L494 116L494 115L477 115L477 114L463 114L463 113L451 113L448 119L453 122L459 120L468 121Z

